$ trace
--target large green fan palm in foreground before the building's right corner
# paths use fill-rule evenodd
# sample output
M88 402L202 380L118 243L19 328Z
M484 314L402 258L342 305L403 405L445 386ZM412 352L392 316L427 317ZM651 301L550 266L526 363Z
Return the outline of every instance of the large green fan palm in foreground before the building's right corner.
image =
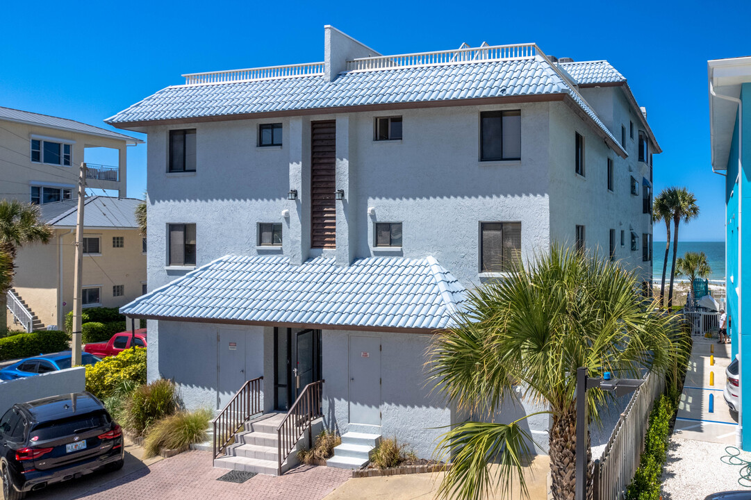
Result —
M635 276L609 259L553 247L529 268L520 264L503 281L469 292L455 326L436 334L427 365L430 383L476 420L517 404L517 390L523 399L546 405L553 498L573 498L577 368L589 367L590 376L609 371L638 378L643 368L666 372L685 352L674 336L674 316L644 303L635 293L638 286ZM599 389L587 392L590 420L599 421L598 408L610 397ZM467 421L446 432L437 452L450 454L453 465L440 495L484 498L491 487L505 495L514 477L526 495L523 463L532 438L520 420ZM490 467L491 461L497 465Z

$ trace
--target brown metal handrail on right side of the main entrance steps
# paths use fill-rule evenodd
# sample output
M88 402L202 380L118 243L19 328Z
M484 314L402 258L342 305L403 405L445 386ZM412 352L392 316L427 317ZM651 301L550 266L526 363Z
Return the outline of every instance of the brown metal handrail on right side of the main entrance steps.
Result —
M307 430L308 442L312 447L312 421L318 417L323 417L321 411L322 402L321 394L323 392L323 380L307 384L294 400L294 404L282 420L282 423L276 427L276 446L277 446L277 474L282 475L282 463L287 459L289 454L294 450L297 440ZM282 450L284 454L282 455Z

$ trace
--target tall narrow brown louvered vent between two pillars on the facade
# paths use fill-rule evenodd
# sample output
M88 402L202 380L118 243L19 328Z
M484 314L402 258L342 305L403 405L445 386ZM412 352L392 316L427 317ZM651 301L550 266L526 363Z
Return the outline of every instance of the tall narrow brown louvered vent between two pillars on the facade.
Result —
M336 120L310 129L310 246L336 248Z

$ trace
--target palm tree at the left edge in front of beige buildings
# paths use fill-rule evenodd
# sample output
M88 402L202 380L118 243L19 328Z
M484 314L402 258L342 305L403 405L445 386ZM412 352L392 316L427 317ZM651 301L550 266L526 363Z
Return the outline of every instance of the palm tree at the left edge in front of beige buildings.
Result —
M13 285L14 263L17 249L26 243L47 243L52 237L52 227L41 221L39 207L18 200L0 200L0 252L6 259L0 262L0 318L2 326L8 324L8 290Z

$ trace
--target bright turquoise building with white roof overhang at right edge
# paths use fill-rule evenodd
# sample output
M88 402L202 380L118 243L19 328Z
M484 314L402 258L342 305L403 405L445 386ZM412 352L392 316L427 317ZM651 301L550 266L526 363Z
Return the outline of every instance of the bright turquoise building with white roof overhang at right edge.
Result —
M743 248L751 248L751 57L707 62L709 73L712 170L725 176L725 285L730 321L732 356L740 353L738 422L743 450L751 450L751 425L743 426L743 414L751 411L751 326L745 328L745 311L751 311L751 260ZM744 147L745 145L745 147ZM743 164L748 165L745 169ZM743 208L746 210L743 210ZM751 221L751 218L749 218ZM749 313L751 314L751 313ZM751 323L749 323L751 325ZM740 335L739 335L740 333Z

